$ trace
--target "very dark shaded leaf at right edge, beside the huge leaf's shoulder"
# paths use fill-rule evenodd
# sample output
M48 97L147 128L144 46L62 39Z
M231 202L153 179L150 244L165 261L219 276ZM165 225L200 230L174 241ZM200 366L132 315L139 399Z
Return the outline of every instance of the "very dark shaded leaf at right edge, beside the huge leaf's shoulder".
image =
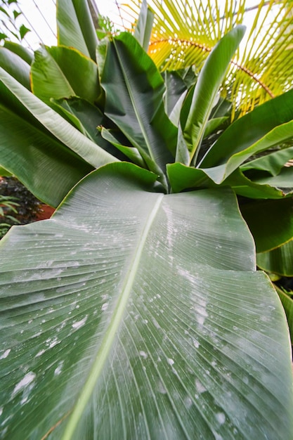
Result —
M241 205L256 252L266 252L293 238L293 199L251 200Z

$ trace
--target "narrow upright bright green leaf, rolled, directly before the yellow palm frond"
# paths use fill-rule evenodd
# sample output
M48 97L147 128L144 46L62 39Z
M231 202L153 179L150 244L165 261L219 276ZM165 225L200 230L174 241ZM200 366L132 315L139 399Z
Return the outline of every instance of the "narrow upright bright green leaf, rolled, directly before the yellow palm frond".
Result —
M182 126L190 155L188 164L192 161L196 162L199 146L204 136L209 115L214 108L219 87L226 74L230 60L245 34L245 29L245 26L239 25L221 38L200 71L197 83L195 84L193 101L188 109L188 117ZM183 107L183 112L185 111Z

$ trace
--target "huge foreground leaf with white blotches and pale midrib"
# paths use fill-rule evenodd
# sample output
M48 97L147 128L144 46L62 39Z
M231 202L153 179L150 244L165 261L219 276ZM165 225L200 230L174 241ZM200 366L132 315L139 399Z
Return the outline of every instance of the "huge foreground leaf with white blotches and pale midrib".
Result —
M1 251L1 438L293 436L282 306L229 190L89 174Z

